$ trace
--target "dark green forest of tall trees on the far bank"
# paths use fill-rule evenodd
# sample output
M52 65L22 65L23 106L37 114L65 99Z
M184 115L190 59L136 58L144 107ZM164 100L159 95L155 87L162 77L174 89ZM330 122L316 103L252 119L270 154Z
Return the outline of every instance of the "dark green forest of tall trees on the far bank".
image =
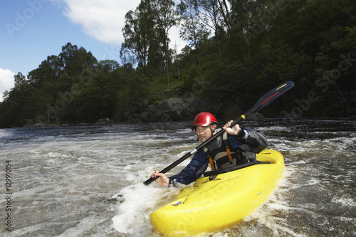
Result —
M189 43L180 53L172 26ZM213 98L245 112L287 80L295 87L265 116L356 115L354 0L142 0L122 34L120 63L63 42L58 56L15 75L0 127L133 121L168 98Z

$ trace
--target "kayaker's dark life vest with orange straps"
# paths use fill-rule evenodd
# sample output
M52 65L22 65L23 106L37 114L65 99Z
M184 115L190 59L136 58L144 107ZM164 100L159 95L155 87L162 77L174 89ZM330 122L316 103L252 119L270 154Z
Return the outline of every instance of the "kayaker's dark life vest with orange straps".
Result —
M210 144L206 145L203 149L207 159L209 160L211 170L223 169L236 164L249 162L246 158L246 152L244 152L243 149L234 149L231 147L229 137L226 132Z

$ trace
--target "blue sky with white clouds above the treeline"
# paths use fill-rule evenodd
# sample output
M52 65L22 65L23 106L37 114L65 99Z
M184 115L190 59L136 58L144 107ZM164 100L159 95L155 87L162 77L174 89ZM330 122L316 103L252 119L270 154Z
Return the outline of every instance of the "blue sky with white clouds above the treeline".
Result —
M70 42L98 60L117 60L125 14L140 0L1 0L0 101L14 87L14 74L38 68ZM184 41L177 28L169 32L178 49Z

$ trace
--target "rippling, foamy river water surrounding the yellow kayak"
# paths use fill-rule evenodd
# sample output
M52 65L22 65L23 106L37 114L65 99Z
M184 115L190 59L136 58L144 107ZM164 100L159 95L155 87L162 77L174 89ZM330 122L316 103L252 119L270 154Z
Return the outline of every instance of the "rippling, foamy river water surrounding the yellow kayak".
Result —
M251 216L209 236L356 236L356 121L242 126L283 154L285 177ZM159 236L150 213L180 189L142 182L198 144L190 122L2 129L0 236Z

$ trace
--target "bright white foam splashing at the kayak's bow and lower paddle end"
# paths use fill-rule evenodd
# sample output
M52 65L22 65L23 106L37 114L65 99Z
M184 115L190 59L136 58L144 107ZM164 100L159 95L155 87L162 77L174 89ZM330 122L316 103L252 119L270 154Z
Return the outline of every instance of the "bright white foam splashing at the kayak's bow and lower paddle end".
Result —
M177 147L184 148L185 146ZM172 161L187 152L187 150L184 150L179 154L174 154ZM164 160L164 162L167 161ZM171 172L166 173L167 177L180 172L189 162L190 159L185 159L177 167L174 167ZM130 171L124 176L124 179L132 181L132 184L125 186L112 196L113 199L117 199L120 203L117 206L117 215L112 217L112 227L117 232L129 234L130 236L152 236L152 234L156 233L150 223L150 213L159 209L160 206L168 204L169 201L173 201L179 194L180 189L161 187L155 184L155 181L147 186L142 182L148 179L155 170L161 170L168 165L169 163L162 164L162 160L157 159L150 165L145 164L145 167L142 167L142 165L137 166L140 169L130 165L122 167L123 170ZM137 183L137 181L140 182Z

